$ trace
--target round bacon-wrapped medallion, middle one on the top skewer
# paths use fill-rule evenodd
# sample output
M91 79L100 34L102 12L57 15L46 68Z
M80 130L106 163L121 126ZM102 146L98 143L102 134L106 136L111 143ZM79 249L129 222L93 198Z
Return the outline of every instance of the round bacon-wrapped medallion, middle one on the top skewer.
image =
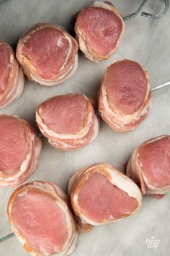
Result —
M29 80L58 85L71 77L78 65L78 43L58 25L33 25L19 39L17 59Z

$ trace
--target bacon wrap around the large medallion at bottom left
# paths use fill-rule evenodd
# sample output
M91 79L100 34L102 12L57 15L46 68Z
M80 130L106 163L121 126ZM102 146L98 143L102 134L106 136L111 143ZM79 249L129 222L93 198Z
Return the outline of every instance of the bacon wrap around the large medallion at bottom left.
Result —
M49 193L50 195L53 195L53 197L56 198L55 203L58 205L59 208L63 211L66 217L66 223L67 223L67 231L68 231L68 239L65 244L63 244L63 250L62 252L58 252L57 255L69 255L73 252L73 250L76 248L77 240L78 240L78 234L76 231L76 226L73 220L73 216L71 215L71 212L68 208L67 203L64 201L66 200L66 195L64 194L63 190L61 190L59 187L55 186L55 184L50 184L48 182L32 182L32 184L29 184L27 187L24 187L24 192L22 192L19 196L22 197L22 195L26 192L27 188L32 189L39 189L40 191L43 191L45 193ZM12 202L9 205L9 216L12 213ZM54 220L53 220L54 221ZM22 235L19 234L17 229L14 226L14 223L12 220L10 221L12 225L12 231L14 231L14 234L19 239L19 242L24 244L27 244L26 239ZM54 246L54 249L57 249L56 246ZM44 252L46 252L46 249L43 248ZM37 256L37 252L30 252L31 255ZM45 255L49 255L48 252Z

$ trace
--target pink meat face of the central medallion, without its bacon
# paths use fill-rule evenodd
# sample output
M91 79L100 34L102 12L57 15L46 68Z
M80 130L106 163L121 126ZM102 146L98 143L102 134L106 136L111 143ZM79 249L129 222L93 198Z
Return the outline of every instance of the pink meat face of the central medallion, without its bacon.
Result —
M45 101L42 108L44 123L61 134L75 134L84 126L86 100L83 95L61 95Z

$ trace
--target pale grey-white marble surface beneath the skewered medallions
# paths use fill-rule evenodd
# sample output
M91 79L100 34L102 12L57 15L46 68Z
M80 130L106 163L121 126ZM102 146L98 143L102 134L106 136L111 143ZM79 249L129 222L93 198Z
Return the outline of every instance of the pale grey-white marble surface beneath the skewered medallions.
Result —
M7 0L0 4L0 38L13 47L19 36L35 22L55 22L73 32L71 18L89 0ZM132 12L140 1L112 1L122 15ZM148 1L147 12L160 12L163 1ZM63 85L46 88L35 82L26 82L24 93L12 106L0 113L15 114L35 125L36 106L52 95L85 93L97 95L104 69L115 59L134 59L145 67L151 77L151 87L170 80L170 9L160 20L135 17L125 23L125 36L120 48L108 61L92 63L79 54L76 74ZM113 132L102 121L97 140L76 152L62 152L43 139L40 164L29 181L46 179L55 182L65 191L68 179L77 169L106 161L123 171L123 165L134 148L156 135L170 133L170 88L153 94L151 114L138 129L127 134ZM11 232L6 218L6 203L13 189L0 188L0 236ZM73 256L168 256L170 255L170 195L161 200L143 198L143 207L132 217L107 226L95 227L88 234L79 236ZM157 248L149 249L146 239L160 239ZM16 237L0 244L1 256L26 256Z

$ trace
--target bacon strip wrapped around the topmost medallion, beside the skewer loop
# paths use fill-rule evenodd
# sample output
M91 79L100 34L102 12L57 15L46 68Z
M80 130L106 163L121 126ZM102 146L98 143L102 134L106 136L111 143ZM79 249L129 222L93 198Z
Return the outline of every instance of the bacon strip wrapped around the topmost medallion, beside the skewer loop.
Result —
M110 4L107 4L107 3L104 3L101 1L96 1L93 4L91 4L91 7L101 7L104 9L108 9L109 11L115 12L120 17L120 14L117 13L115 7ZM103 60L101 58L97 58L97 57L94 57L93 55L91 55L91 52L89 51L88 47L86 46L86 39L84 38L84 35L81 33L81 29L79 28L79 26L77 24L75 24L75 31L76 31L77 37L79 38L79 48L84 53L84 56L86 56L86 58L90 59L91 61L95 61L95 62L99 62L99 61ZM124 22L122 22L122 33L123 33L123 31L124 31ZM120 40L122 38L122 33L120 35L120 38L117 40L117 44L120 42ZM117 48L117 46L109 53L109 56L111 56L115 52L116 48ZM109 58L109 56L108 56L108 58Z

